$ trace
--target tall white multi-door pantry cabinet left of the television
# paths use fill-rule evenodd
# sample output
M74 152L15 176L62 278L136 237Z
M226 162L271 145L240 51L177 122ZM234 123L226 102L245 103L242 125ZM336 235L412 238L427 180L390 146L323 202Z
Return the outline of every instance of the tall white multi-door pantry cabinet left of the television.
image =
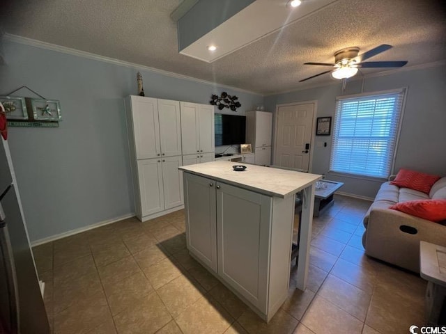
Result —
M183 166L184 157L191 157L183 157L185 148L198 150L194 157L205 155L200 152L204 149L206 157L212 157L209 161L213 160L214 152L210 152L214 150L212 106L187 103L197 113L202 109L207 112L197 115L197 118L201 116L202 124L194 116L197 127L190 127L188 109L183 107L185 102L135 95L125 97L124 102L137 217L146 221L183 208L183 172L178 167ZM201 138L207 146L200 141L184 142L184 138L192 137ZM185 161L190 164L190 160ZM204 161L197 159L192 163Z

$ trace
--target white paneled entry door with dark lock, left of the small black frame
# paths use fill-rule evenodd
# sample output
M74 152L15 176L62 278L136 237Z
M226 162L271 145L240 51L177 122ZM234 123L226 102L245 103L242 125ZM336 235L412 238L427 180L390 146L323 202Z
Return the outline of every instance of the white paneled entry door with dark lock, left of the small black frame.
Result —
M274 164L309 170L314 104L277 107Z

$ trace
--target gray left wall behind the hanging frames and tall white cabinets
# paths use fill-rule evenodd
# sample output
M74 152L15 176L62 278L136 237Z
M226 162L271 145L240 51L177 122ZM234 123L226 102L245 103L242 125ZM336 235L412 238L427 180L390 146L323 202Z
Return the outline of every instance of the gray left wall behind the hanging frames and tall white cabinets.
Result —
M25 85L61 102L59 128L9 129L31 241L134 213L123 97L137 92L137 69L3 44L0 95ZM240 113L263 102L261 95L140 72L150 97L207 104L212 93L226 91L239 97Z

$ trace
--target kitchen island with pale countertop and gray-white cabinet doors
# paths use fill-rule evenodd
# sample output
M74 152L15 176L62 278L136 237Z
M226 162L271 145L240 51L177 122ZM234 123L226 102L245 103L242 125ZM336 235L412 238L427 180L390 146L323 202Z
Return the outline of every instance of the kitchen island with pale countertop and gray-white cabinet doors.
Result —
M295 193L303 191L297 288L307 281L314 184L321 175L231 161L182 166L187 248L262 319L289 289Z

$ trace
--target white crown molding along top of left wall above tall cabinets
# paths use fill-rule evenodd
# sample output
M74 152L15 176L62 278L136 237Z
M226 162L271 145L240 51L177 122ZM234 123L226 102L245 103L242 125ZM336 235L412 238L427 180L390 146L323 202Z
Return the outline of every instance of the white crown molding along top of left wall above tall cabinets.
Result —
M198 82L200 84L207 84L210 86L218 86L220 88L228 88L231 90L236 90L240 93L248 93L248 94L253 94L253 95L259 95L259 96L263 96L263 94L261 93L257 93L257 92L252 92L250 90L245 90L242 88L237 88L237 87L233 87L233 86L227 86L227 85L223 85L223 84L218 84L217 82L213 82L213 81L207 81L207 80L203 80L203 79L197 79L194 77L189 77L187 75L183 75L183 74L178 74L178 73L174 73L174 72L169 72L169 71L164 71L164 70L159 70L157 68L154 67L148 67L146 65L140 65L137 63L130 63L128 61L121 61L119 59L115 59L115 58L109 58L106 56L100 56L99 54L92 54L91 52L86 52L86 51L81 51L81 50L77 50L77 49L72 49L70 47L62 47L61 45L55 45L55 44L51 44L48 42L43 42L41 40L33 40L32 38L26 38L26 37L22 37L19 35L13 35L10 33L5 33L3 35L3 38L5 40L8 40L10 42L17 42L20 44L24 44L24 45L29 45L31 47L40 47L40 49L47 49L47 50L51 50L51 51L56 51L56 52L61 52L63 54L70 54L72 56L79 56L82 58L89 58L89 59L93 59L95 61L103 61L105 63L111 63L114 65L120 65L120 66L125 66L125 67L130 67L130 68L134 68L135 70L144 70L147 72L153 72L153 73L157 73L157 74L162 74L165 75L167 77L173 77L176 79L185 79L185 80L190 80L190 81L195 81Z

